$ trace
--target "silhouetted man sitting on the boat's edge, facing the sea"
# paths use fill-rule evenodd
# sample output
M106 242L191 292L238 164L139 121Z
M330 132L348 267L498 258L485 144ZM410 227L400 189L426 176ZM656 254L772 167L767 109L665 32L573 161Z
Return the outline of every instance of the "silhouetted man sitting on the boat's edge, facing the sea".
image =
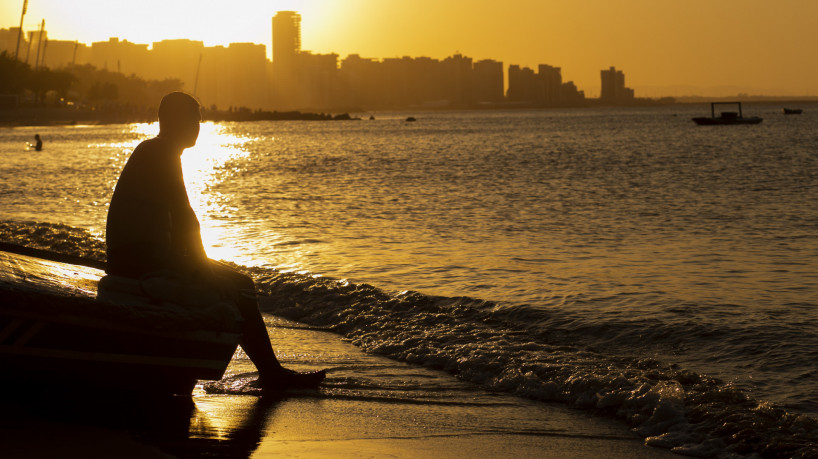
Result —
M188 201L181 156L196 144L201 115L192 96L173 92L159 104L159 135L140 143L125 164L108 209L110 275L139 279L161 270L216 287L243 318L241 346L265 389L317 386L325 372L297 373L281 366L258 309L253 280L207 258L199 220Z

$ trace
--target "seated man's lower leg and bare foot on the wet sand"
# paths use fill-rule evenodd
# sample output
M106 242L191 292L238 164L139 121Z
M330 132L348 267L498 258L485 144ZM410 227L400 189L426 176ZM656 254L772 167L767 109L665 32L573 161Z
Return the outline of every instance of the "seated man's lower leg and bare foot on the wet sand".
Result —
M271 388L318 385L325 377L323 370L314 373L296 373L282 367L279 363L270 343L270 337L267 335L267 326L258 309L253 280L218 262L212 262L211 269L216 277L224 279L235 290L233 296L236 307L244 319L241 347L258 369L262 384Z

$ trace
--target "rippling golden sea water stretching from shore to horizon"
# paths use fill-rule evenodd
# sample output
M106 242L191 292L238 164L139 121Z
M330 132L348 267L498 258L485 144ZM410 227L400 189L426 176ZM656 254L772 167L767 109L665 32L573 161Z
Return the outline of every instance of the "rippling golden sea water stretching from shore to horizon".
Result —
M254 275L265 312L680 453L812 457L802 108L745 104L764 122L728 127L696 126L704 105L207 123L183 161L208 254ZM104 257L118 174L157 129L0 128L0 238Z

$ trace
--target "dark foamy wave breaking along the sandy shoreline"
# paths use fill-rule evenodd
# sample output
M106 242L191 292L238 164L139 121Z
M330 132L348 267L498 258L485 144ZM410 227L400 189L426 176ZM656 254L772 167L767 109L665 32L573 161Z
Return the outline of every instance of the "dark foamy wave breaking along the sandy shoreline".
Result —
M0 222L0 239L104 259L103 241L65 225ZM619 418L650 446L696 457L818 457L816 419L673 362L605 345L658 342L672 335L673 324L578 323L570 311L242 269L256 279L266 313L322 327L368 352L449 372L488 390Z

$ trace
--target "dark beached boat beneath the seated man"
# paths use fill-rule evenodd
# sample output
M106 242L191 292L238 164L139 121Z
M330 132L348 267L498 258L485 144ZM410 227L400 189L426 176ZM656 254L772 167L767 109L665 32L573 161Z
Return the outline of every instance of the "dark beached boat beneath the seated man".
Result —
M9 244L0 265L6 391L190 395L222 377L241 338L232 304L173 304L161 278L105 276L102 263Z

